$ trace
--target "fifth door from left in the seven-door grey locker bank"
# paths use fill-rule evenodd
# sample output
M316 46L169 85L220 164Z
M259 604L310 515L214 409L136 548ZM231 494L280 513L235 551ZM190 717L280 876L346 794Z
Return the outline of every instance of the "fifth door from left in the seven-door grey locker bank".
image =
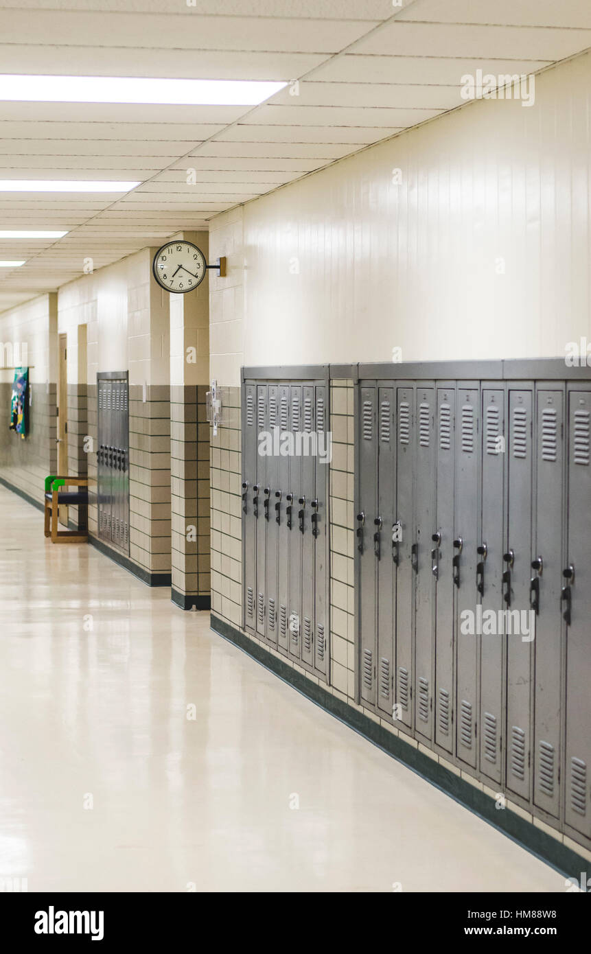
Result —
M302 385L291 384L290 391L290 419L291 432L297 434L302 429ZM296 659L300 658L300 633L302 617L302 532L299 513L301 506L298 503L302 495L302 458L293 454L289 459L289 492L293 500L289 506L291 513L291 529L289 530L289 615L287 626L289 629L289 653Z

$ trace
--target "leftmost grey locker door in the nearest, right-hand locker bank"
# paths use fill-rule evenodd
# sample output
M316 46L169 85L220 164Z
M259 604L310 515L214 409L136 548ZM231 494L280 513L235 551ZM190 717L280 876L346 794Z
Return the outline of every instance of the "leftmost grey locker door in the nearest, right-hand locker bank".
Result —
M359 414L359 512L357 513L357 550L359 553L359 633L360 694L366 702L375 702L375 563L373 520L376 515L376 435L375 387L360 392Z

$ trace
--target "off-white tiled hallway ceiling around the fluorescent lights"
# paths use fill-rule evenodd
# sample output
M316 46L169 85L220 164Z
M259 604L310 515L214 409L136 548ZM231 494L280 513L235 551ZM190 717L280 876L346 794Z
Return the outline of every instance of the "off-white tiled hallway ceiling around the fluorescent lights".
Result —
M127 196L0 193L0 310L460 105L463 73L591 46L581 0L0 0L0 72L300 80L259 107L0 102L0 178L133 179ZM186 170L197 182L186 183Z

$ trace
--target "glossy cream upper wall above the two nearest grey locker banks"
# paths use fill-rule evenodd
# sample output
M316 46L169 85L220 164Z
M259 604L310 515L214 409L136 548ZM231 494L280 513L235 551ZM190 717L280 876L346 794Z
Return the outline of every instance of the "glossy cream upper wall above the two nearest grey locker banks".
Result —
M243 363L553 357L591 338L590 94L584 54L537 77L532 107L469 104L246 204L231 229L213 219ZM240 320L218 296L222 280L211 320ZM214 376L239 384L236 326L227 340Z

